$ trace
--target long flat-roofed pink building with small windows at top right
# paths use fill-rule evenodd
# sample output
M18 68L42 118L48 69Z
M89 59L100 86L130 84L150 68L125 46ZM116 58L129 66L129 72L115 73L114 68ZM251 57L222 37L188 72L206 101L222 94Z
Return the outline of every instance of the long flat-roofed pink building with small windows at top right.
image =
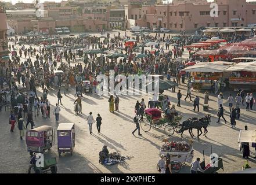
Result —
M126 5L127 28L163 27L173 31L194 31L200 27L246 27L256 24L256 4L246 0L216 0L218 17L210 16L206 0L174 0L168 5Z

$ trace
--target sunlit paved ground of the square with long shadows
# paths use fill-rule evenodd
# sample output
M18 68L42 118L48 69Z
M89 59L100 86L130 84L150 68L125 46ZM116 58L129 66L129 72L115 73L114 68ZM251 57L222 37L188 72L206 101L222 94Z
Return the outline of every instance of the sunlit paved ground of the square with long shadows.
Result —
M122 33L123 34L123 33ZM206 113L211 113L212 122L208 126L207 138L200 136L200 139L191 138L188 131L185 131L183 138L180 135L174 134L171 137L164 134L164 129L151 129L149 132L141 130L142 136L138 136L137 132L135 136L131 132L135 129L133 123L134 106L137 100L145 98L147 102L148 96L135 95L135 96L120 96L120 112L110 113L109 102L107 101L109 96L102 96L96 94L86 94L82 99L82 114L76 116L73 111L74 87L67 96L64 96L62 90L63 106L60 112L60 123L75 123L76 138L75 149L73 156L65 153L62 157L57 154L56 138L55 146L49 150L45 157L56 157L57 167L59 173L157 173L156 164L158 161L158 153L161 145L163 145L163 139L169 140L193 140L194 158L203 158L203 149L205 147L212 146L213 153L217 153L223 156L223 173L230 173L238 171L243 166L245 160L242 158L242 153L239 151L237 139L240 129L244 129L244 125L248 125L248 129L256 129L255 125L255 110L246 112L244 107L241 109L241 118L237 121L235 129L230 127L230 122L216 123L217 121L217 97L210 94L210 110L203 112L203 99L204 94L200 92L192 92L194 95L200 97L200 112L193 111L193 102L184 101L184 95L186 94L186 84L179 86L183 97L181 101L181 108L176 108L178 112L182 114L183 120L189 117L201 117ZM37 88L39 96L42 93L41 88ZM178 91L178 88L176 88ZM224 93L224 97L228 98L228 93ZM176 105L176 93L171 91L164 91L171 97L171 102ZM235 93L234 93L235 95ZM48 99L52 105L57 102L57 91L50 89ZM229 120L228 103L224 103L225 117ZM254 107L256 109L256 107ZM102 134L97 134L96 125L93 125L93 134L89 134L88 124L86 122L86 116L89 112L93 113L96 118L97 113L102 116ZM10 125L8 124L9 111L2 109L0 112L0 173L26 173L30 161L30 155L27 152L26 141L19 139L19 131L17 126L15 131L10 133ZM55 129L57 125L53 115L53 106L51 106L51 118L43 119L41 114L34 118L36 127L41 125L51 125ZM28 126L29 127L29 126ZM194 130L196 134L196 130ZM103 166L99 164L99 151L103 145L109 147L109 151L118 151L121 154L133 156L131 160L127 160L124 163ZM255 156L255 151L250 147L252 157ZM210 161L210 150L205 151L205 160ZM256 161L254 158L249 159L250 165L256 167ZM183 173L189 172L189 165L186 164L182 168ZM219 171L222 173L222 170Z

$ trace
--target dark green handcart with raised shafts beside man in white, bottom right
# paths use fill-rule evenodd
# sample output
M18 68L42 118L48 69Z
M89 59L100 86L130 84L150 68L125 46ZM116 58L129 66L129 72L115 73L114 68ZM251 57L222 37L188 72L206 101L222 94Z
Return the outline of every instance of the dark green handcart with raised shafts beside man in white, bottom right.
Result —
M204 156L204 151L208 148L209 147L203 150L203 156ZM200 163L201 168L204 169L204 171L203 172L197 171L198 173L218 173L217 171L219 169L222 169L224 171L222 157L219 155L215 156L212 154L212 146L210 146L210 149L211 149L211 162L208 165L205 165L205 157L204 157L204 160ZM215 159L215 157L217 158Z

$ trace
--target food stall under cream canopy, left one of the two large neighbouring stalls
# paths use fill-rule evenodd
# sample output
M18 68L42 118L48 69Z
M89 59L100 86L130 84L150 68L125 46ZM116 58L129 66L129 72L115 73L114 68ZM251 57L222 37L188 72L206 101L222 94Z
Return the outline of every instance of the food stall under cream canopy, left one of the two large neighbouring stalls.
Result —
M229 73L224 73L225 69L234 65L233 62L199 62L181 71L190 72L191 83L195 90L210 90L214 80L225 82L229 78Z

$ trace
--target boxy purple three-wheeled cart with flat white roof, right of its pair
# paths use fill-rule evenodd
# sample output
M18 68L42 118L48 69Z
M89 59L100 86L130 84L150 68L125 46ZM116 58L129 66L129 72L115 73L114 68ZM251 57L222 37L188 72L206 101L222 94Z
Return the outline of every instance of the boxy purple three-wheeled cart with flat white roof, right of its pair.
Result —
M57 147L61 153L70 152L71 156L75 147L75 124L61 123L57 128Z

